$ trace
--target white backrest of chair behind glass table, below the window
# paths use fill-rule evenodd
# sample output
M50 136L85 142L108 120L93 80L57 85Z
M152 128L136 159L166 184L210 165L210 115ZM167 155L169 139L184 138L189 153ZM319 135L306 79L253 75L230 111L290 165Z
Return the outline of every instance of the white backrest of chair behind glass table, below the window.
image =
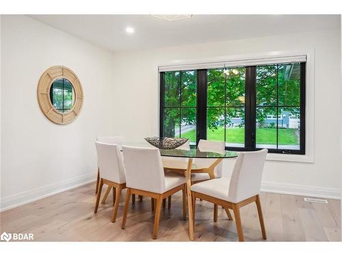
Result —
M226 147L226 143L224 141L207 141L205 139L201 139L198 142L198 149L200 151L208 151L208 150L224 150ZM200 165L200 166L207 166L215 162L216 159L195 159L194 163ZM223 161L221 161L218 165L216 165L214 169L215 177L222 177L223 172Z

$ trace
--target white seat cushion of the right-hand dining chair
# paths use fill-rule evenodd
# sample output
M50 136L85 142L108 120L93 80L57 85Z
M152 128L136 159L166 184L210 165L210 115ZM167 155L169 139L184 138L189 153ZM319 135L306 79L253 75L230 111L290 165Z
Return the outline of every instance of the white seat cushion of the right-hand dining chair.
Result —
M191 190L201 194L228 201L229 179L220 177L192 185Z

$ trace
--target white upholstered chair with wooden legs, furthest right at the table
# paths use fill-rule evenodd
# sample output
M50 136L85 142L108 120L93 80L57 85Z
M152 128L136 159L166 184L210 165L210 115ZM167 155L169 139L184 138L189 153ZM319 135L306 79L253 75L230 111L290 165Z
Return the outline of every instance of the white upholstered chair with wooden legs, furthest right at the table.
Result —
M231 179L221 177L194 184L191 188L193 211L195 212L196 198L232 209L239 241L244 241L239 208L256 202L263 239L266 239L259 197L266 155L267 150L241 152L235 162Z

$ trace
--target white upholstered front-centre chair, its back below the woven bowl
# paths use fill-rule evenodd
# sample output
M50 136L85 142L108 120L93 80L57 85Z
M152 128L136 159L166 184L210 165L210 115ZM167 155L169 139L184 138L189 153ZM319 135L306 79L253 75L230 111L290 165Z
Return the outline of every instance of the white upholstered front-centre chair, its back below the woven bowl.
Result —
M153 227L153 239L156 239L163 199L183 190L183 218L186 217L186 179L180 175L169 176L164 173L157 148L122 146L122 152L126 170L127 196L121 228L124 229L126 225L131 193L151 197L157 200Z

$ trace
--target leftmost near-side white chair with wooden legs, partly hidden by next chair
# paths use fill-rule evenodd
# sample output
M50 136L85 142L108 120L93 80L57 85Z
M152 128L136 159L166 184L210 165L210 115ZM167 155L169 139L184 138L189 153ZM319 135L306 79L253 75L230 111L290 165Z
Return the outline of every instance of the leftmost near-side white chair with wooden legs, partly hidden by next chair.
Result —
M120 152L120 147L114 143L109 144L96 141L96 150L100 184L94 212L96 213L98 210L98 203L100 202L103 184L107 184L109 187L112 187L113 190L114 188L116 190L114 209L111 217L111 222L115 222L120 203L121 191L126 188L126 177L124 173L122 154Z

